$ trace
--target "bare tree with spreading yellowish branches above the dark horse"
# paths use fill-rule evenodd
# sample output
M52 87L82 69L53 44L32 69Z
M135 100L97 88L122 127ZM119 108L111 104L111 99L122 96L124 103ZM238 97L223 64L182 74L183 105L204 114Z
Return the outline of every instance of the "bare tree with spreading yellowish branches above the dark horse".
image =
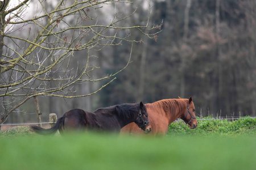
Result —
M101 78L93 76L100 69L91 63L92 52L105 46L122 45L123 41L139 42L129 35L119 35L122 29L138 29L142 35L148 34L156 26L125 25L135 11L128 16L108 14L111 20L102 22L95 11L107 10L113 4L131 3L128 1L67 1L48 2L19 1L14 6L10 0L0 3L0 102L2 124L11 112L34 96L57 96L65 98L96 94L115 79L123 69ZM28 7L32 7L30 15ZM105 17L106 17L105 16ZM105 19L106 20L106 19ZM76 51L84 50L84 66L72 67ZM80 61L77 61L80 62ZM108 83L90 94L76 94L72 87L76 83L98 82L110 79ZM33 91L36 90L36 94Z

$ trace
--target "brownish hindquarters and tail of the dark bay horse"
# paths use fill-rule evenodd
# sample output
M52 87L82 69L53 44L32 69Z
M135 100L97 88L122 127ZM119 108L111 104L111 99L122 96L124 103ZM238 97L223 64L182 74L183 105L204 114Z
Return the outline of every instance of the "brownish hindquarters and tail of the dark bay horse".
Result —
M72 109L58 118L56 124L49 129L40 128L39 126L30 126L38 134L55 134L57 130L60 133L67 129L85 129L86 113L82 109Z

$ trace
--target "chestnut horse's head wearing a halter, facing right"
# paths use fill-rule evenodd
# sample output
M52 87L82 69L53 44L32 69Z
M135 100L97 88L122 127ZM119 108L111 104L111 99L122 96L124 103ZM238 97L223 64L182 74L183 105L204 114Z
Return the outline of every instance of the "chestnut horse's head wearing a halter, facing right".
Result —
M181 115L181 119L184 120L186 124L190 126L191 129L195 129L197 126L196 114L195 114L195 106L192 101L192 97L189 97L187 101L187 109L183 115Z

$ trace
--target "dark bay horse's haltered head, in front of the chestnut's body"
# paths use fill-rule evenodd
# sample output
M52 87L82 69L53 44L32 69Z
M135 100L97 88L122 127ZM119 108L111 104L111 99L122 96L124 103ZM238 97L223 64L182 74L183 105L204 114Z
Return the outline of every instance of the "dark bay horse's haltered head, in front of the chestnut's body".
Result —
M142 130L144 130L145 133L150 133L151 126L148 120L147 109L142 102L139 104L139 108L139 114L135 116L135 124L137 124Z

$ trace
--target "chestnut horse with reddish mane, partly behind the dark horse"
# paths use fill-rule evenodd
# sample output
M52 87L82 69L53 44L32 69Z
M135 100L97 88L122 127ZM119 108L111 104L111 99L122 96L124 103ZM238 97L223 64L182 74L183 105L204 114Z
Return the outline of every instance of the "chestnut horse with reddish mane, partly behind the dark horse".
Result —
M165 135L168 126L177 118L184 120L191 129L197 126L195 116L195 106L192 97L189 99L164 99L154 103L145 104L148 113L148 119L151 125L152 135ZM121 134L138 134L141 133L135 124L131 123L121 129Z

